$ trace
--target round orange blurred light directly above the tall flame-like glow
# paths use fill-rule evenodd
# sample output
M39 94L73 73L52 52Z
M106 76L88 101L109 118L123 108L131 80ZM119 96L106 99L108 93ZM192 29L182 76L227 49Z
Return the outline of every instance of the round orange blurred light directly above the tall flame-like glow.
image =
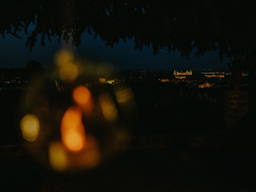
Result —
M85 86L77 86L73 91L73 99L78 104L85 104L90 100L90 91Z

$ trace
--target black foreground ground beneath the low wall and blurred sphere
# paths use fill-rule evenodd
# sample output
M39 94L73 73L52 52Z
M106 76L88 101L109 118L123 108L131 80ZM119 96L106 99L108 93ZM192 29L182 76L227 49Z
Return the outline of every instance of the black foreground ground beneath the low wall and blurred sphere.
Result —
M4 191L254 191L248 176L238 174L240 165L230 166L223 150L216 148L131 148L93 170L72 175L42 168L19 145L1 146L1 151Z

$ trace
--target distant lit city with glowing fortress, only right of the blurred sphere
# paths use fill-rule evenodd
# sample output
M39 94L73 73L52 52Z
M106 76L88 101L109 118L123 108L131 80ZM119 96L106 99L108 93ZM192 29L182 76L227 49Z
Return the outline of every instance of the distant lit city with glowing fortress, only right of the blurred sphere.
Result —
M206 72L186 70L186 72L171 71L130 71L124 72L126 76L116 79L99 78L99 82L118 84L119 82L153 82L163 84L180 84L187 88L220 88L230 86L230 72ZM243 76L248 76L244 74ZM240 86L248 86L244 82Z

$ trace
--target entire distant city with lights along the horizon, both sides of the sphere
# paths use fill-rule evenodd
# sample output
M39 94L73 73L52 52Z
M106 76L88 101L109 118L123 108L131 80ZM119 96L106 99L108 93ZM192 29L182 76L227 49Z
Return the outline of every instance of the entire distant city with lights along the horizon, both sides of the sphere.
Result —
M17 75L15 70L0 69L0 90L27 90L29 77L24 70ZM227 88L230 86L230 72L199 70L191 71L117 71L111 78L100 77L100 83L118 84L121 82L152 82L153 84L180 85L187 88ZM246 78L248 74L243 73ZM58 81L56 80L56 85ZM248 80L244 80L240 86L248 86ZM57 87L57 86L56 86ZM60 88L59 88L60 89ZM63 88L62 88L63 89Z

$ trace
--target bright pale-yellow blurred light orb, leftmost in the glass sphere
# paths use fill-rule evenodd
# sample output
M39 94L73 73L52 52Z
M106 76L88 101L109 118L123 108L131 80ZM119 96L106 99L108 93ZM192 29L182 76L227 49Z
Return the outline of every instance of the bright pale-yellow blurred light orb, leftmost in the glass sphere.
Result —
M36 140L40 124L37 116L34 114L27 114L20 121L20 130L25 140L33 142Z

